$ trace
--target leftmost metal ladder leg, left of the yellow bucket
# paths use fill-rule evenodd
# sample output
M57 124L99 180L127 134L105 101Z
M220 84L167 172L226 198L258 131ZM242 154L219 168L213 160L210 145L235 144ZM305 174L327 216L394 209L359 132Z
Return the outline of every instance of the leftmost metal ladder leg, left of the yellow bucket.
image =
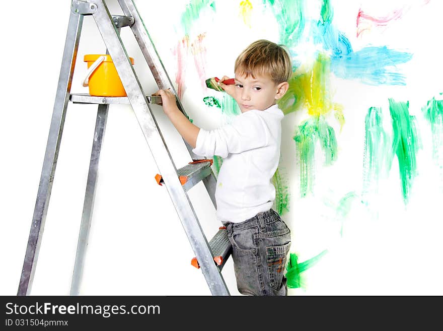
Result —
M64 44L61 69L58 78L57 93L52 111L48 141L38 186L37 199L32 217L31 230L26 247L17 295L29 295L34 280L40 244L43 236L49 198L54 180L58 151L63 132L66 108L72 83L74 66L79 48L83 16L70 12L66 41Z

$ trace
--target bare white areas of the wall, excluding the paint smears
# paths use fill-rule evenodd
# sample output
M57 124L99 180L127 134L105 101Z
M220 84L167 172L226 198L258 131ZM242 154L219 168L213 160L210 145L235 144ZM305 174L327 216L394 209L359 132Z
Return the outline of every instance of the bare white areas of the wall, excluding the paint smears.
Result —
M2 208L0 232L0 294L15 295L20 280L43 156L48 138L57 88L70 2L50 4L51 15L40 3L25 2L20 15L4 15L0 53L3 83L0 146L2 147ZM165 63L171 80L177 70L172 53L180 38L179 14L184 2L138 2L138 9ZM234 4L235 3L235 4ZM252 2L259 6L261 2ZM352 4L350 4L352 3ZM328 249L329 254L303 274L305 288L290 294L443 294L440 279L441 208L443 197L433 178L431 137L420 108L435 93L443 92L440 54L441 28L437 20L441 3L398 1L413 10L386 31L373 31L368 39L355 38L358 6L370 1L331 1L334 22L353 42L354 48L369 44L388 44L414 52L403 67L407 86L368 86L337 79L334 101L343 104L346 123L340 132L336 124L339 156L330 167L318 165L317 194L299 197L299 164L294 129L306 118L306 111L285 116L282 127L280 169L288 178L289 212L283 215L292 231L291 252L304 261ZM420 3L420 4L419 4ZM217 2L215 28L221 39L209 38L207 77L233 74L233 61L249 41L275 36L275 24L233 38L237 15L229 6L237 2ZM225 4L225 5L221 5ZM233 5L234 4L234 5ZM10 6L10 8L8 8ZM7 4L6 13L17 9ZM395 6L393 6L394 8ZM24 9L26 8L26 9ZM171 10L171 9L176 10ZM258 8L258 7L255 7ZM380 15L383 2L372 5ZM121 15L116 2L110 12ZM168 11L169 9L170 11ZM55 15L52 13L56 13ZM171 16L167 16L171 15ZM223 21L229 31L224 31ZM169 22L172 22L171 24ZM203 24L203 23L202 23ZM209 29L209 26L207 27ZM214 28L213 28L214 29ZM214 33L214 31L212 31ZM130 30L122 29L127 51L134 57L146 94L157 88ZM212 36L217 35L216 33ZM240 36L240 34L239 34ZM87 93L81 82L86 72L84 54L104 53L105 46L92 17L84 21L82 39L71 92ZM225 120L209 112L201 102L204 93L189 59L187 91L182 102L194 123L211 128ZM364 116L370 106L384 107L389 119L387 99L410 100L410 113L417 116L423 149L417 156L418 173L410 203L405 206L400 194L398 163L394 160L388 178L382 181L378 217L367 214L357 203L352 205L338 234L336 207L346 193L361 193ZM153 106L177 167L190 161L187 150L162 109ZM51 200L34 278L32 295L69 294L80 227L89 158L94 134L96 106L69 104L63 130ZM332 123L331 123L332 125ZM389 124L388 124L389 125ZM321 160L321 152L316 157ZM129 106L111 105L101 153L94 215L87 252L82 295L210 295L199 270L190 266L194 256L180 220L165 187L154 180L157 166ZM217 230L214 208L202 183L189 192L200 223L208 237ZM223 275L232 295L239 295L230 259Z

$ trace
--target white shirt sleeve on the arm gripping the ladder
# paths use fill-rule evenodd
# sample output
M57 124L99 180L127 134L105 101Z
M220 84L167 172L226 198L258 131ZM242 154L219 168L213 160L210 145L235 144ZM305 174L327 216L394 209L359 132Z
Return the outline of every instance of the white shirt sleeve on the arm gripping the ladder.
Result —
M238 115L231 124L217 129L200 128L192 152L205 157L217 155L226 158L229 153L241 153L268 145L269 135L264 120L248 111Z

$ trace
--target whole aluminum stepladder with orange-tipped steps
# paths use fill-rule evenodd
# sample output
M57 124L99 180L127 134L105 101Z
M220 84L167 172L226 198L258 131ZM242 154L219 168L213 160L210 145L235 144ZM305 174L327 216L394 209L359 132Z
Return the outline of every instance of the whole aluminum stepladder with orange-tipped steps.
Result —
M171 89L176 95L168 74L163 66L157 50L132 0L118 0L125 16L111 15L105 0L72 1L69 24L64 45L62 64L55 96L46 152L37 192L37 200L26 248L23 269L17 295L29 295L42 240L44 223L49 205L55 166L61 142L66 109L69 101L73 103L98 104L97 120L94 133L91 161L87 179L85 201L82 213L76 261L71 283L71 295L80 291L83 263L88 243L97 182L100 150L105 133L109 104L130 103L144 138L161 175L156 179L159 184L165 183L191 247L195 253L192 264L201 268L212 295L230 295L228 287L221 275L221 269L231 254L231 244L226 229L220 227L208 242L200 226L198 218L189 200L187 190L203 181L206 190L215 206L215 175L211 169L211 160L196 160L186 141L185 145L194 161L183 168L177 169L169 153L155 118L150 103L159 103L160 97L146 96L141 88L135 71L120 39L120 28L130 26L140 46L144 58L149 65L159 89ZM110 54L118 75L125 88L127 97L94 97L88 94L71 94L71 82L75 69L77 51L82 31L83 18L92 15L105 42L107 53ZM156 100L157 99L157 100ZM177 98L179 109L186 115ZM198 260L198 262L197 262Z

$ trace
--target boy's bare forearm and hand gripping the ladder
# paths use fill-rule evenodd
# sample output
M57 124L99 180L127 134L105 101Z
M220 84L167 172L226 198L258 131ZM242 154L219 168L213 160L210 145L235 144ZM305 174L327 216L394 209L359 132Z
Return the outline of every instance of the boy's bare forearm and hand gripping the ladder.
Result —
M174 93L169 90L159 90L153 95L160 95L162 97L163 111L169 117L172 124L174 124L180 136L182 136L192 148L195 148L200 128L192 124L178 109Z

